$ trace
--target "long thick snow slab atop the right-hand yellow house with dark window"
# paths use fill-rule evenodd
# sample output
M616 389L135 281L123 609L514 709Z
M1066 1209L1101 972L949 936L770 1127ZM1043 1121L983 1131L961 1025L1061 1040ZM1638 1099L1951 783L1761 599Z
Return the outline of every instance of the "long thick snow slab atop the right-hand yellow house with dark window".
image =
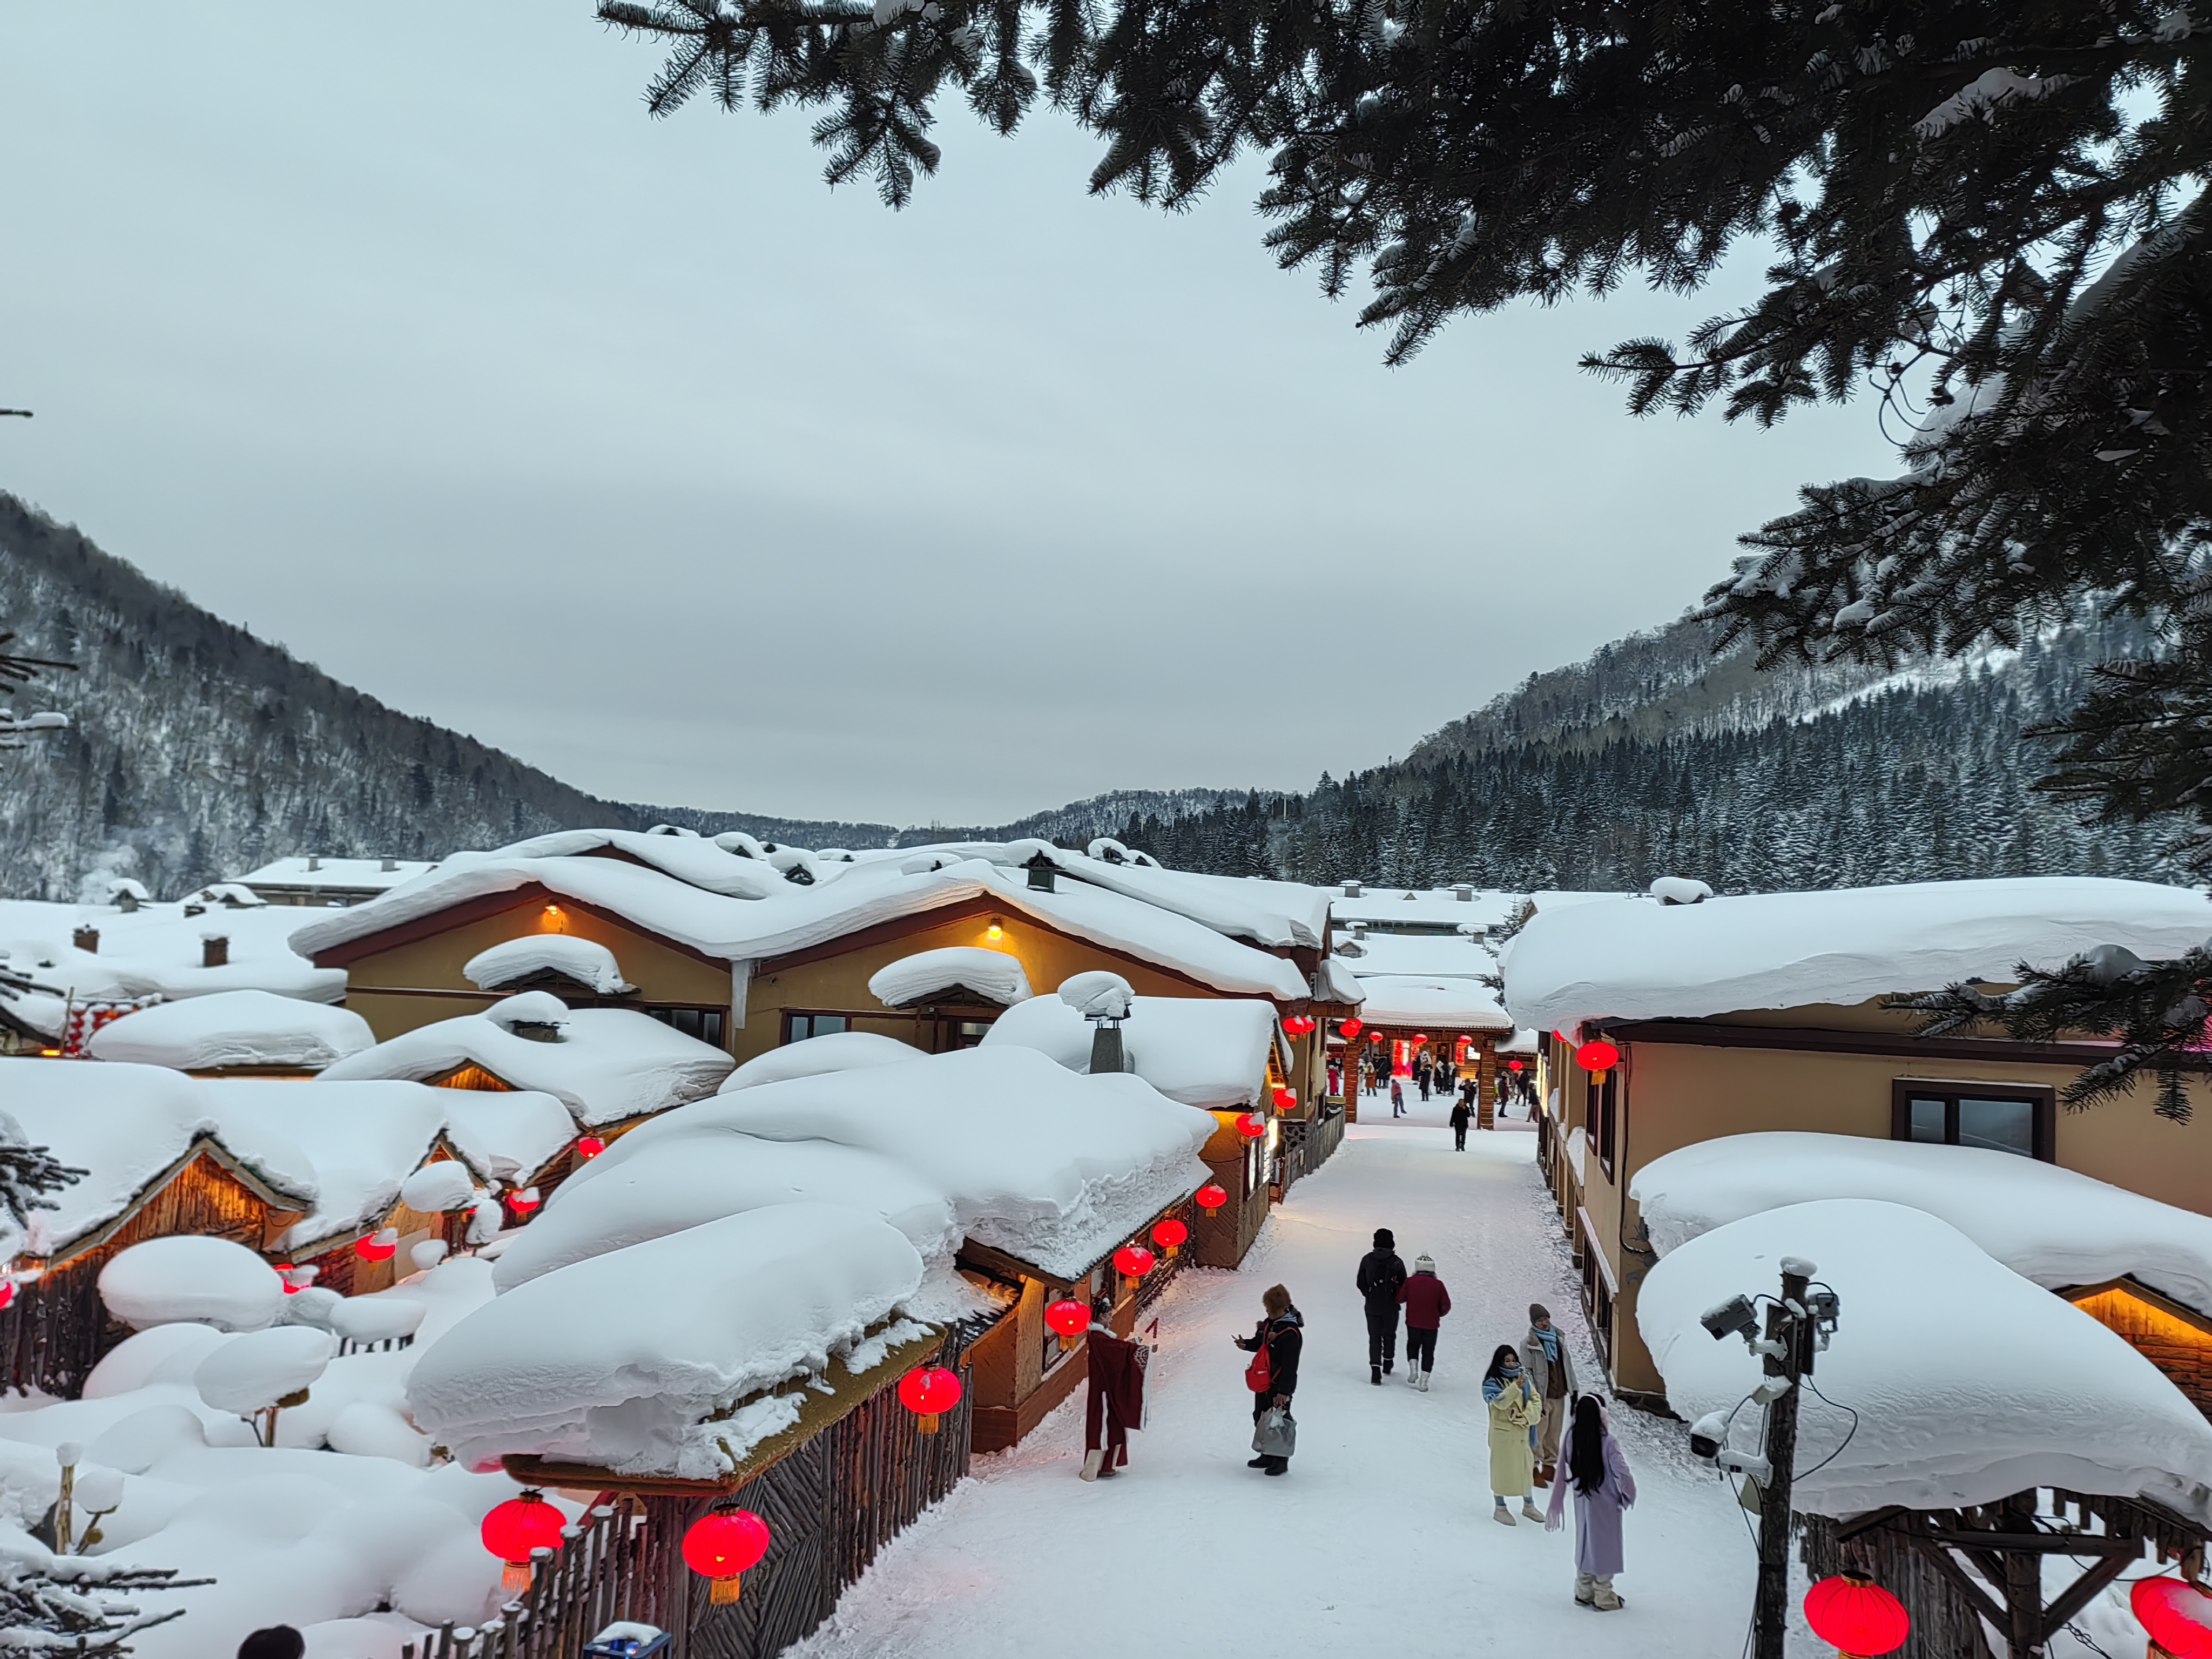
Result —
M1703 905L1648 898L1537 916L1506 945L1506 1006L1522 1024L1657 1020L1856 1004L1960 980L2011 982L2099 945L2168 958L2212 936L2185 887L2101 876L2008 876L1750 894Z

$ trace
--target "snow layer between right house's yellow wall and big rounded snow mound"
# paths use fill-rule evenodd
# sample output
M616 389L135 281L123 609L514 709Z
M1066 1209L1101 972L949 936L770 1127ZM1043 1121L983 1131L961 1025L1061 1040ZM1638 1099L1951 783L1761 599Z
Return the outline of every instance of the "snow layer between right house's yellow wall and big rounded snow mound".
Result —
M1628 1183L1663 1256L1701 1232L1812 1199L1927 1210L2048 1290L2132 1276L2212 1314L2212 1217L1980 1146L1860 1135L1723 1135L1652 1159Z

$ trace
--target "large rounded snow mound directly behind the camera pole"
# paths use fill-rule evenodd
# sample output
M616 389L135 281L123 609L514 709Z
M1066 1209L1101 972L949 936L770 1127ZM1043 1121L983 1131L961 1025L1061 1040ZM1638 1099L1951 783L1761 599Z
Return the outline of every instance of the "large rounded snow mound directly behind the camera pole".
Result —
M1734 1294L1776 1294L1785 1254L1809 1259L1843 1298L1814 1383L1849 1407L1807 1394L1798 1509L1953 1509L2064 1486L2212 1517L2212 1422L2121 1336L1900 1203L1794 1203L1663 1256L1637 1327L1679 1416L1732 1411L1756 1387L1759 1358L1712 1340L1699 1314ZM1745 1405L1732 1442L1754 1438Z

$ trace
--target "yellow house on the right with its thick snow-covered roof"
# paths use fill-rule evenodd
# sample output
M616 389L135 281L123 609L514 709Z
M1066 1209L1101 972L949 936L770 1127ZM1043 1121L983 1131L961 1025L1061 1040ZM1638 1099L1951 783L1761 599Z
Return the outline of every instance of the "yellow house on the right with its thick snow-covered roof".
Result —
M1980 1146L2212 1210L2201 1124L2154 1117L2141 1093L2057 1110L2110 1044L1920 1040L1909 1013L1885 1006L1958 982L2008 984L2020 962L2057 969L2099 945L2177 956L2208 933L2199 891L2070 876L1721 898L1672 883L1537 907L1502 958L1506 1009L1551 1033L1559 1086L1544 1157L1615 1387L1661 1391L1635 1316L1657 1254L1632 1188L1686 1146L1759 1130ZM1601 1077L1573 1062L1597 1037L1619 1053ZM2212 1110L2212 1091L2190 1093ZM2166 1312L2146 1307L2143 1323Z

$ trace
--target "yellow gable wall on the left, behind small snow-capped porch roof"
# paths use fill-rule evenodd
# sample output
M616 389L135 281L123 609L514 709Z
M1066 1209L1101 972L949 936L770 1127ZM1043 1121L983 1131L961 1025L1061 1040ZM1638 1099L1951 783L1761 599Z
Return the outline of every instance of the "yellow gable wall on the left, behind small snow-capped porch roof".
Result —
M639 1002L690 1002L701 1006L730 1006L730 971L701 962L695 956L670 949L650 933L639 933L622 922L602 920L575 905L560 905L562 927L546 925L544 900L515 905L513 909L462 922L442 933L376 951L347 964L345 1006L369 1022L378 1042L403 1031L451 1020L460 1013L478 1013L500 1000L498 993L476 991L462 978L462 964L478 951L504 945L529 933L560 931L571 938L588 938L615 953L622 978L637 987ZM378 995L380 987L403 991L469 991L469 998L418 998Z

